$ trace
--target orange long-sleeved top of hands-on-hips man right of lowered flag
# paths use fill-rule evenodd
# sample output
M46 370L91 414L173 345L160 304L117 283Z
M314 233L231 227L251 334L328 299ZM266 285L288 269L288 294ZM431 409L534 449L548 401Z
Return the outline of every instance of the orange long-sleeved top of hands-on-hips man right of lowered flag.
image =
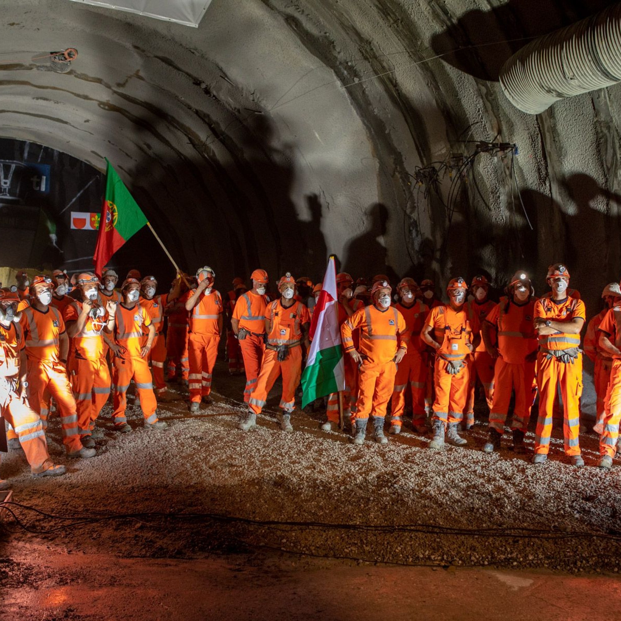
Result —
M380 311L372 304L351 315L341 326L346 352L354 349L352 332L356 329L360 330L360 355L378 365L386 364L394 358L397 353L397 338L401 338L400 347L406 350L410 341L406 320L394 306Z

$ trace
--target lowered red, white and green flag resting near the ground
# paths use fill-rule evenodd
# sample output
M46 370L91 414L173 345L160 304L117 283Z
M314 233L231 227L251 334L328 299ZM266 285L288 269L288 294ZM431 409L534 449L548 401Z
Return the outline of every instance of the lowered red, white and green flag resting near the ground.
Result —
M345 390L345 364L338 325L337 269L330 256L311 322L311 351L302 373L302 407L330 392Z

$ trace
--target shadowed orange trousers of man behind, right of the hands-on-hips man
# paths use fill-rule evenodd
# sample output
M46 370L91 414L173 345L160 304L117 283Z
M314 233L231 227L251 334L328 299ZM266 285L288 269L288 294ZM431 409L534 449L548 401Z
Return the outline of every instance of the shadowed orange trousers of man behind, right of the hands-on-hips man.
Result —
M391 425L401 427L406 409L408 388L412 394L412 424L425 424L425 387L427 386L427 356L414 350L397 365L391 400Z

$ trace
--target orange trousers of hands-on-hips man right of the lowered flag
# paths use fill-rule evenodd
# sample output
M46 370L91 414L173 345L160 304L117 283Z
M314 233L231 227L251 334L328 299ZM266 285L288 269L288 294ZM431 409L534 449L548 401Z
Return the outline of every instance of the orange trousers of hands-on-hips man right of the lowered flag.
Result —
M396 373L397 365L392 360L381 365L363 360L358 368L358 401L356 411L351 412L352 425L355 420L365 420L369 416L386 416Z

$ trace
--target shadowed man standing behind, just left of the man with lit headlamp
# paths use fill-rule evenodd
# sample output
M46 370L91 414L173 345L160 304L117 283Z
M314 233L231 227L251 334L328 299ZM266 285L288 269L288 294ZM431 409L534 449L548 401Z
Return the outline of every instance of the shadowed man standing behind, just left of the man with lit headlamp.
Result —
M472 316L476 314L479 326L496 306L496 302L487 297L489 281L483 275L474 276L470 284L470 292L474 298L466 302L466 311ZM532 315L531 315L532 317ZM480 336L480 335L479 335ZM466 401L465 427L470 429L474 425L474 396L477 380L481 382L485 392L488 409L492 407L494 395L494 359L487 353L485 343L479 338L479 345L471 356L471 365L468 365L468 399Z

